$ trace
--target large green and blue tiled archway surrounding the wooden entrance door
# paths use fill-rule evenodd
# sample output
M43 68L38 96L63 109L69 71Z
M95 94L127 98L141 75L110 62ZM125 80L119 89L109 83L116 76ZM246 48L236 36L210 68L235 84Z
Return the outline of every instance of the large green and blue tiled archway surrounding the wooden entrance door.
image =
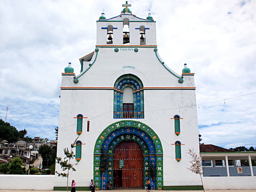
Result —
M113 151L122 141L134 141L143 150L144 188L149 178L156 190L163 189L163 146L157 134L142 122L123 120L109 125L102 131L94 147L93 178L96 190L105 190L107 182L113 183ZM107 170L100 171L101 155L107 159ZM154 180L150 169L155 169Z

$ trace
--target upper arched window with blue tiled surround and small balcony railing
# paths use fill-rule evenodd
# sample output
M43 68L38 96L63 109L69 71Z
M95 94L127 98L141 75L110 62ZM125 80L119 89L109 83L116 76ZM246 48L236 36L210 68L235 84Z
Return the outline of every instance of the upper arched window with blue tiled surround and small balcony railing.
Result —
M141 80L125 74L114 84L114 119L144 118L144 92Z

